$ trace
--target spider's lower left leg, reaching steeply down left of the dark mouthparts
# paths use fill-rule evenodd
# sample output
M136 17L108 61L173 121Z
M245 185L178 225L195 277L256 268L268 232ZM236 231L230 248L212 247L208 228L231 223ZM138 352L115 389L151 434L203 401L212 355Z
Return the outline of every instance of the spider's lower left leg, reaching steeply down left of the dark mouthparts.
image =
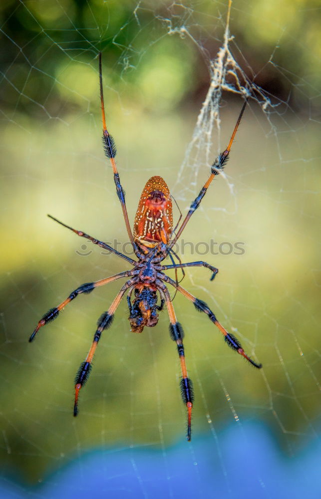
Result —
M97 329L94 334L93 342L91 344L91 347L89 349L88 355L85 359L84 362L80 364L79 370L77 372L77 375L75 377L75 401L74 401L74 408L73 408L73 415L77 416L78 414L78 396L79 396L79 391L80 389L84 386L86 383L88 376L91 371L91 362L92 358L94 356L98 341L100 339L101 333L103 332L104 329L108 329L108 327L111 326L111 323L114 318L114 313L116 308L118 307L120 300L124 296L126 290L133 285L133 282L135 281L135 277L132 277L130 280L128 280L120 289L118 294L116 295L115 299L113 300L112 304L108 308L106 312L103 312L101 316L98 319L97 322Z

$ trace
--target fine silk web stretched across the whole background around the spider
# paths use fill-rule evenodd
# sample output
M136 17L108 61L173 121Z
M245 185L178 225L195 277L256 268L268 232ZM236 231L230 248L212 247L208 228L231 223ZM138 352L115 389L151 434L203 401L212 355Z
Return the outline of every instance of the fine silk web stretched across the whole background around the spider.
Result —
M291 497L307 488L318 497L320 58L312 35L320 7L119 3L1 7L1 497L269 498L283 497L283 486ZM175 297L195 388L190 444L166 311L134 335L123 300L76 419L73 378L119 283L79 296L27 343L72 289L127 268L45 216L128 250L100 142L99 50L131 223L153 175L186 213L250 96L230 161L178 251L220 269L214 282L188 269L182 285L264 369L241 362Z

